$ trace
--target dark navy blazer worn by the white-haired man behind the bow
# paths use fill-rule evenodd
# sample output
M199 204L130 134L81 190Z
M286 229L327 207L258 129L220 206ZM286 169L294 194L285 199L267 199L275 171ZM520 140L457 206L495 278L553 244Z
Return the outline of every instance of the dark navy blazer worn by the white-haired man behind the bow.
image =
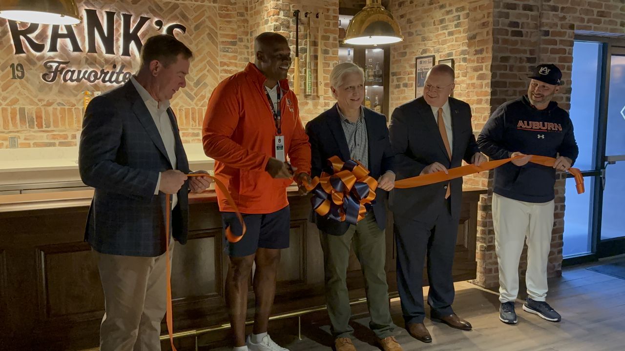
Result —
M363 107L364 108L364 107ZM386 117L370 109L364 108L364 120L367 124L367 139L369 142L369 175L378 179L386 171L393 171L393 156L389 144L389 132L386 127ZM341 126L341 116L336 104L324 111L306 124L306 134L311 143L311 175L316 177L322 171L331 173L327 159L338 156L342 161L351 159L345 133ZM372 206L376 216L377 226L386 227L386 197L387 192L376 190L376 203ZM314 212L314 211L313 211ZM321 215L312 214L312 222L322 232L332 235L343 235L349 229L349 222L339 222L326 219Z

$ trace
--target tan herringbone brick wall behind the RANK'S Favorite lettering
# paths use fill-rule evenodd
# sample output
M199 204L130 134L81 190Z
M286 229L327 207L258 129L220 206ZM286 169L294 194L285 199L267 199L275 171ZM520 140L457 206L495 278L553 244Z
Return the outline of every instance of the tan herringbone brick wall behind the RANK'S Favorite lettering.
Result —
M247 28L240 26L237 16L245 13L245 7L236 1L219 0L211 3L204 1L81 1L79 9L96 9L101 21L104 11L117 12L115 15L115 47L116 54L86 53L85 26L74 26L74 32L83 52L72 52L69 40L60 40L58 52L37 54L26 49L26 54L15 55L8 22L0 19L0 52L6 57L0 62L2 76L0 82L0 148L8 147L8 136L19 138L19 147L51 147L76 146L76 136L81 129L83 118L83 91L108 91L114 84L96 82L91 84L48 83L41 79L46 72L43 62L47 60L69 61L68 69L107 69L113 64L118 67L125 65L124 71L134 72L138 69L138 52L131 47L131 57L120 56L122 13L132 14L131 26L139 20L139 16L149 17L139 37L144 40L148 36L164 32L159 31L158 22L165 26L181 23L187 27L186 33L177 32L176 36L191 47L196 56L192 63L191 74L187 87L173 99L181 133L187 142L199 141L197 128L204 116L207 98L221 77L222 64L238 62L239 57L227 57L224 47L239 45L246 47ZM243 22L244 23L244 22ZM24 27L21 24L20 27ZM243 29L243 30L242 30ZM34 37L36 41L47 42L51 26L41 25ZM222 31L222 32L220 32ZM232 42L222 42L226 36L234 37ZM46 44L46 49L48 45ZM247 54L247 49L244 51ZM24 79L11 79L11 64L21 63L26 74Z

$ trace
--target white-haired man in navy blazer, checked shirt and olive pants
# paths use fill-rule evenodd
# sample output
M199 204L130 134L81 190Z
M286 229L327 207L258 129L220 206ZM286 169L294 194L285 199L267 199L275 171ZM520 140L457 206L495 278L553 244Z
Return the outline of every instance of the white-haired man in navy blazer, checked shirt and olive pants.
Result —
M350 159L360 162L378 181L376 202L356 225L312 214L312 221L320 231L324 254L326 304L335 338L334 347L337 351L356 350L351 342L354 329L349 325L351 309L346 280L353 243L366 280L371 314L369 327L383 350L401 351L401 346L392 335L395 325L389 312L384 270L386 196L395 180L386 117L361 106L364 72L360 67L351 62L339 64L332 69L330 81L337 103L306 126L311 144L311 175L331 172L327 159L338 156L344 162Z

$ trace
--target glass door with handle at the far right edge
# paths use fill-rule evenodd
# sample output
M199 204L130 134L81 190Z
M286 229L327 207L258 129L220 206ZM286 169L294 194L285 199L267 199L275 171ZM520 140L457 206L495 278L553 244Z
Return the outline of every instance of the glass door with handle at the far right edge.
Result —
M625 252L625 47L611 47L599 257Z

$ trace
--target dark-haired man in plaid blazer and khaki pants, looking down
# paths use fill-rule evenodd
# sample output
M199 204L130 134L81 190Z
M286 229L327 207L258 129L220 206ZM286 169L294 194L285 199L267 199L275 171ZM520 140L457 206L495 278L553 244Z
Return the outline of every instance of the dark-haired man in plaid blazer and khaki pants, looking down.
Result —
M104 290L102 351L161 349L166 240L186 242L188 189L201 192L210 184L208 177L187 184L189 162L169 107L186 86L191 57L173 36L150 37L136 76L94 98L85 112L79 169L84 184L95 188L85 240ZM167 234L165 194L171 194Z

